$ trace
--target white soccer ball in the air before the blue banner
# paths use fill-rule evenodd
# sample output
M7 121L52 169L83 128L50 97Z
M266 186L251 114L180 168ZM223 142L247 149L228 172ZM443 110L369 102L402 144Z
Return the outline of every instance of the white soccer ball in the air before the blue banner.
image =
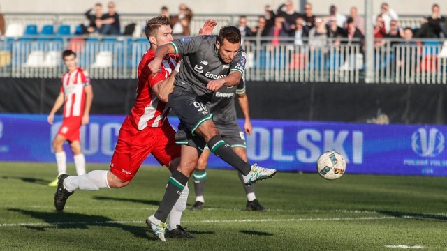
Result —
M344 174L346 171L346 160L336 151L325 151L316 160L316 170L321 177L332 181Z

